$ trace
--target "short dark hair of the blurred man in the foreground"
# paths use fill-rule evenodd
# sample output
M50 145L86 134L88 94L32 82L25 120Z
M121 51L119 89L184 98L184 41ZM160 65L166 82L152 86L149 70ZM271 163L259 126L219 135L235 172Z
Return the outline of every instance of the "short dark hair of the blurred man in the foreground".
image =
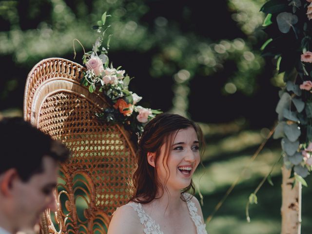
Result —
M0 120L0 175L15 168L23 181L42 172L43 156L64 162L69 150L21 117Z

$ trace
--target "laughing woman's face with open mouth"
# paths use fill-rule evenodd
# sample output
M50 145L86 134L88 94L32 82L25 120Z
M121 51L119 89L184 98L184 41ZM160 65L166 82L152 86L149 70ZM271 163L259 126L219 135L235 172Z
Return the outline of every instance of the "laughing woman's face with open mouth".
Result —
M168 178L166 183L168 189L184 189L190 185L191 178L200 161L199 142L195 129L193 127L180 129L173 144L168 147L168 160L165 155L165 143L160 148L160 155L156 163L159 182L165 184Z

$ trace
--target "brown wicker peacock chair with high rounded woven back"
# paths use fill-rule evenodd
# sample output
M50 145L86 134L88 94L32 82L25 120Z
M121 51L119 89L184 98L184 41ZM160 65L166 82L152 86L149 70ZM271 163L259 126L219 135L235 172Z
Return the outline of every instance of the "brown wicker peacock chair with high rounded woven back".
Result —
M43 234L106 234L112 214L128 198L134 145L122 126L95 117L109 104L80 85L84 69L67 59L44 59L26 81L24 119L72 152L60 166L58 211L41 217Z

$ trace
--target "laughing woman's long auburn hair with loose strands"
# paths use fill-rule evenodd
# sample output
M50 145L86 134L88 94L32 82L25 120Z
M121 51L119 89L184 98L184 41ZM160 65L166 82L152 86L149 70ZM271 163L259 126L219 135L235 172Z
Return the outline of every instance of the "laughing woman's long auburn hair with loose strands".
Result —
M176 137L177 131L180 129L186 129L188 127L193 127L200 144L201 153L204 150L204 140L203 134L200 127L195 124L194 121L182 117L180 115L163 113L156 116L144 127L142 136L138 141L137 150L137 164L132 175L132 180L130 181L130 201L139 202L142 204L149 203L156 197L158 189L167 190L166 182L162 185L157 179L157 169L151 166L147 160L147 153L155 153L155 165L160 155L160 148L165 144L165 156L162 162L167 164L168 156L170 154L171 145L173 144L174 138ZM167 158L165 162L165 158ZM168 166L168 165L167 165ZM170 176L170 172L169 172ZM167 175L167 180L169 178ZM167 190L168 191L168 190ZM183 193L189 191L192 195L195 193L195 186L193 180L186 188L181 191L181 199L186 201ZM191 199L190 196L188 199Z

